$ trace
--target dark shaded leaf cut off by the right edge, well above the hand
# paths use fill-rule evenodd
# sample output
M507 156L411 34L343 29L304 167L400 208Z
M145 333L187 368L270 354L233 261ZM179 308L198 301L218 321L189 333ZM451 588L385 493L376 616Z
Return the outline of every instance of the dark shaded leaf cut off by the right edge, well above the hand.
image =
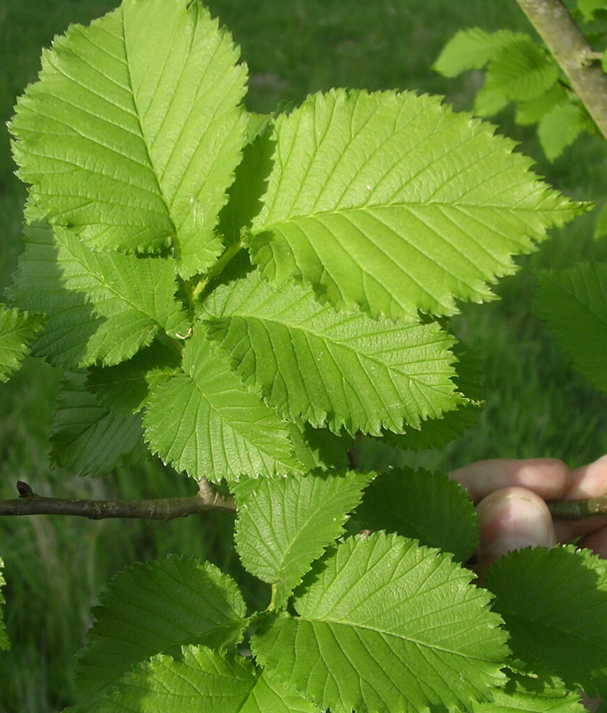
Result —
M536 273L536 307L576 369L607 391L607 265Z

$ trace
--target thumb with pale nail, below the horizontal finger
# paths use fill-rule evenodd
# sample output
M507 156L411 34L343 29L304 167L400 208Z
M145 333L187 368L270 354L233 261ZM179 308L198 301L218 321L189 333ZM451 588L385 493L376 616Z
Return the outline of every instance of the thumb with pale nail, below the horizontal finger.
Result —
M501 488L476 508L481 529L478 573L511 550L552 547L556 533L543 498L526 488Z

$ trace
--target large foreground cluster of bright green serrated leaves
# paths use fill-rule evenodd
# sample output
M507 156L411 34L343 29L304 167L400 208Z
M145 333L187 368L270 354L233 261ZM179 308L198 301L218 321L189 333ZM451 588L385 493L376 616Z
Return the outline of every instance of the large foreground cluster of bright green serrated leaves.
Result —
M29 349L63 370L53 459L75 473L147 446L229 488L269 585L251 613L208 563L117 575L72 710L578 709L576 686L606 692L601 563L513 555L491 604L461 564L479 536L461 488L345 463L359 433L414 448L469 424L447 317L586 206L437 98L335 89L262 117L246 74L198 1L123 0L54 41L11 120L29 202L1 377ZM593 626L539 647L563 601Z

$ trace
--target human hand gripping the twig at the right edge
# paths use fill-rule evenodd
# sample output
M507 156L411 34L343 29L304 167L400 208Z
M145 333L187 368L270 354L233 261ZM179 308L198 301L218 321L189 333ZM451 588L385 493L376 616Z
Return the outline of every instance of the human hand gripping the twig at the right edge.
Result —
M529 545L551 547L582 536L580 547L607 558L607 515L554 520L546 501L607 495L607 456L570 471L555 458L478 461L449 473L476 505L481 543L479 578L501 555Z

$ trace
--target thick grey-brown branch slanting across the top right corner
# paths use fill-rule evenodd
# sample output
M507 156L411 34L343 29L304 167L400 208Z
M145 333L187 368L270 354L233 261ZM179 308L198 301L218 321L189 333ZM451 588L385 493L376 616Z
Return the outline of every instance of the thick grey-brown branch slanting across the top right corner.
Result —
M607 138L607 75L561 0L517 0Z

